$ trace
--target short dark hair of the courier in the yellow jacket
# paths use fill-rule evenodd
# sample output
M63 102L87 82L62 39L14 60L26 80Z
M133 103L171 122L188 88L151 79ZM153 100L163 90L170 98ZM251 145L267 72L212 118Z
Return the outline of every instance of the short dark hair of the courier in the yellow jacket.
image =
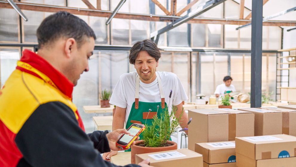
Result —
M84 42L85 37L96 39L94 31L85 21L65 11L46 17L39 25L36 35L39 48L60 37L74 38L78 48Z

